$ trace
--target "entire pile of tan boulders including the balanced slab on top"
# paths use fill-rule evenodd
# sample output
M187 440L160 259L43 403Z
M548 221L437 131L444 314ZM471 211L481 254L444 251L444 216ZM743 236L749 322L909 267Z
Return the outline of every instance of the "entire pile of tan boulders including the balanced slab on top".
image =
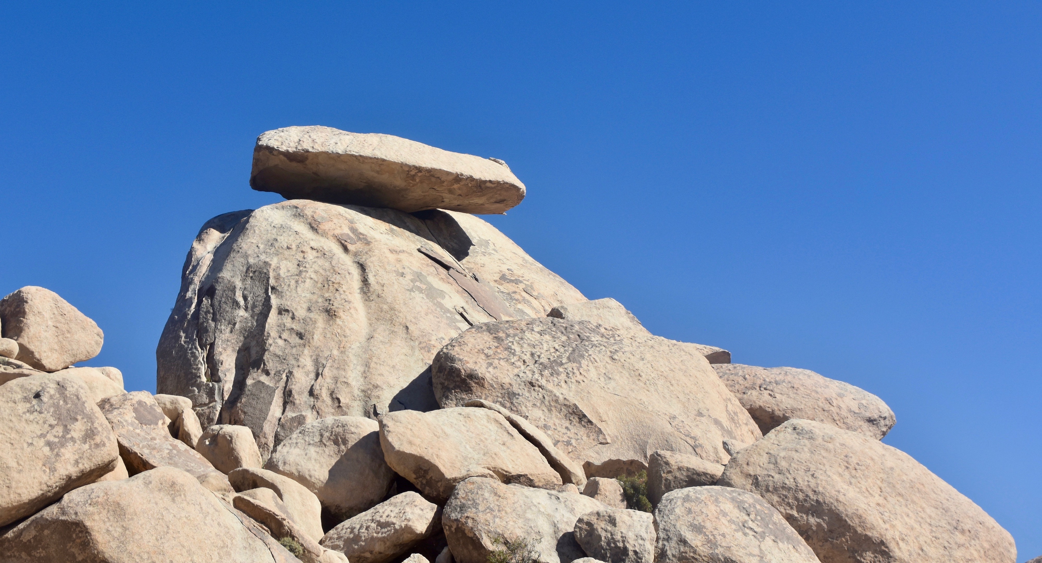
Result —
M1016 563L879 398L590 301L488 223L502 160L257 138L290 199L192 244L127 392L52 291L0 300L0 561Z

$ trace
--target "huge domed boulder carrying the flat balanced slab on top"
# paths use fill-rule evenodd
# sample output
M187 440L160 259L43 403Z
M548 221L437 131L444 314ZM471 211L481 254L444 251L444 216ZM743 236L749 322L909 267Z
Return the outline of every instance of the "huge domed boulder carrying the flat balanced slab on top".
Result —
M468 214L303 200L227 213L189 253L157 387L204 426L249 427L267 459L318 418L437 408L435 354L495 318L477 299L502 318L585 301Z

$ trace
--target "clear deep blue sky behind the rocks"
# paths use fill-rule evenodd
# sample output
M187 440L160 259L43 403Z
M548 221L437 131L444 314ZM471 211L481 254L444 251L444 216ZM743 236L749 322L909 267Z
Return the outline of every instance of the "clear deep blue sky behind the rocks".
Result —
M591 299L889 403L886 442L1042 555L1042 4L329 2L0 17L0 295L155 388L208 217L265 130L502 158L489 219ZM176 4L176 5L174 5Z

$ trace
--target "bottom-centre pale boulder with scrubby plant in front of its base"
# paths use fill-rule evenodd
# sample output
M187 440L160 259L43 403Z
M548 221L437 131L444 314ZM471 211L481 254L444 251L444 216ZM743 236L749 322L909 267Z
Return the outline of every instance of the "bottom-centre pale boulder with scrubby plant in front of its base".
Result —
M442 528L458 563L487 563L489 554L501 548L494 542L498 538L532 541L542 563L570 563L586 557L574 538L575 521L602 508L581 494L471 478L449 497Z

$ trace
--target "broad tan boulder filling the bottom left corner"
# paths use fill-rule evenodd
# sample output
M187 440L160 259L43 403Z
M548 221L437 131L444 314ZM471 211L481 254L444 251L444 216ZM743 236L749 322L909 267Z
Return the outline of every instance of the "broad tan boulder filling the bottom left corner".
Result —
M264 535L259 533L259 535ZM192 476L159 467L66 493L0 536L9 563L263 563L271 546Z

